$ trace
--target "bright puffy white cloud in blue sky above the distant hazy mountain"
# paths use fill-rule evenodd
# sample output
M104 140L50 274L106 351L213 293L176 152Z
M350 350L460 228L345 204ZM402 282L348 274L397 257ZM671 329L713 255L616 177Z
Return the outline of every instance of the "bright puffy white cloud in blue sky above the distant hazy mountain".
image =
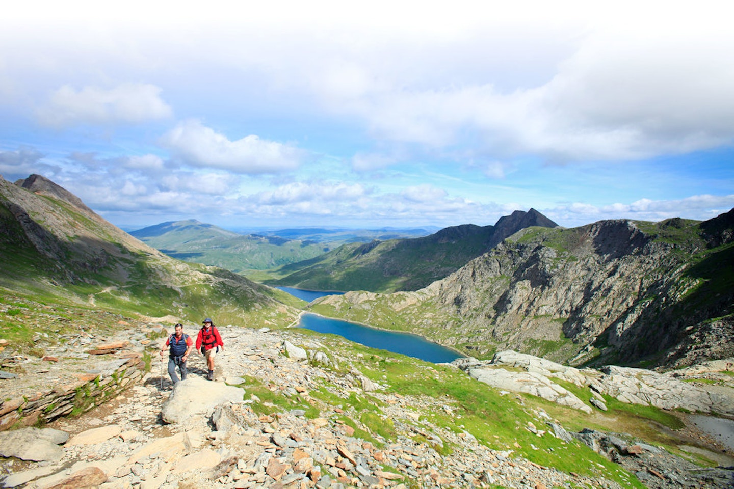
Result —
M299 166L304 152L297 147L250 135L236 141L186 120L161 138L175 158L191 166L227 169L244 174L279 173Z

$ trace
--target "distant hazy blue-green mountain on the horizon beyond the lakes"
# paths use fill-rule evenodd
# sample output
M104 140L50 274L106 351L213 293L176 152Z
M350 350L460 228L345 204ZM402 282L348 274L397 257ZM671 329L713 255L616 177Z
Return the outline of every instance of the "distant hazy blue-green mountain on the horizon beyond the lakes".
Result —
M330 250L312 241L240 235L195 220L164 222L130 234L170 257L243 274L308 260Z

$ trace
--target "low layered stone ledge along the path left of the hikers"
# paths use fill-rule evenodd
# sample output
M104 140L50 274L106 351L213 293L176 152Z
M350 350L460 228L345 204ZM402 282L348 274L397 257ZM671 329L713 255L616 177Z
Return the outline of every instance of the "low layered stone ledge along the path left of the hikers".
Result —
M145 374L142 353L121 353L120 357L110 361L98 374L81 375L73 383L4 400L0 403L0 431L79 415L114 399Z

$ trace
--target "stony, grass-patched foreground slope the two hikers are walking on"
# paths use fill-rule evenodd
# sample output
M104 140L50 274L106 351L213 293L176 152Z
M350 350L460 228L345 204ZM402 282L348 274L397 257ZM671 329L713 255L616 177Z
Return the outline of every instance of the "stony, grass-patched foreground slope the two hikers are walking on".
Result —
M162 339L151 343L146 333L160 325L134 326L86 337L86 347L77 343L48 353L57 354L68 375L156 352ZM197 354L189 361L189 378L172 388L154 359L140 383L81 417L0 432L2 485L724 489L733 481L731 470L716 467L731 458L705 433L683 429L683 413L635 411L606 394L595 395L608 411L586 413L529 394L508 395L454 365L305 330L230 325L222 335L227 347L214 382L203 380L205 361ZM82 350L100 350L100 342L126 346L74 363ZM564 369L515 356L504 371L517 373L518 361L535 362L528 371L538 378L553 375L547 369ZM29 372L33 363L23 362ZM462 368L469 365L472 372L487 367L474 362ZM106 383L109 374L96 370L100 385ZM580 376L571 370L554 375ZM727 372L716 375L730 385ZM699 372L691 380L710 375ZM584 389L580 402L590 411ZM12 402L0 402L0 412L6 404ZM644 420L645 413L657 414L656 421ZM596 430L582 429L589 425ZM604 433L603 427L617 430ZM721 461L698 465L707 457Z

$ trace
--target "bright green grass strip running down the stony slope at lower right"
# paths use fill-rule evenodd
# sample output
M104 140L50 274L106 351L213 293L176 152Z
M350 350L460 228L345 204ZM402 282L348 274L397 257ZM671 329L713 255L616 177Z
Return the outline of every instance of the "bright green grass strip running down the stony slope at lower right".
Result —
M530 433L525 429L528 422L542 429L542 420L520 405L515 397L501 396L495 389L471 380L457 369L377 352L360 345L353 348L355 353L363 354L357 357L360 360L353 366L368 378L387 383L388 393L430 399L431 408L421 411L421 417L430 423L457 434L470 433L485 446L513 450L540 465L578 474L602 475L619 481L624 487L644 487L619 466L576 441L563 444L551 435L538 437ZM351 358L355 359L355 355ZM382 418L375 413L373 419L378 422Z

